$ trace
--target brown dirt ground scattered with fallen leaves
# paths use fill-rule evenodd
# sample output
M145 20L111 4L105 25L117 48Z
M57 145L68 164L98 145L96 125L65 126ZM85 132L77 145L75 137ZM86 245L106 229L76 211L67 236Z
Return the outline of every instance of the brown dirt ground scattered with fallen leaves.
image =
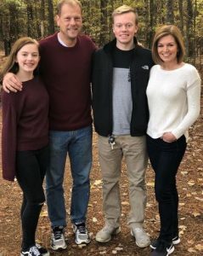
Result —
M1 113L0 113L1 114ZM176 246L174 256L203 255L203 98L201 97L200 118L189 130L190 139L187 152L178 171L179 191L179 228L181 243ZM49 247L50 226L47 206L42 208L37 240L42 242L52 256L65 255L149 255L149 247L140 249L136 246L127 227L129 212L128 184L126 165L123 162L121 172L121 233L112 241L99 244L95 235L104 224L102 212L102 181L98 160L97 135L93 134L93 168L91 172L91 198L88 206L87 226L92 241L87 247L78 247L74 243L70 211L70 165L67 161L65 170L65 200L68 218L66 238L68 248L63 252L53 252ZM0 170L1 172L1 170ZM0 173L0 176L1 173ZM154 195L154 174L149 165L147 170L148 204L146 207L145 229L155 239L160 228L157 205ZM0 177L0 256L20 255L20 204L22 193L18 183L9 183Z

